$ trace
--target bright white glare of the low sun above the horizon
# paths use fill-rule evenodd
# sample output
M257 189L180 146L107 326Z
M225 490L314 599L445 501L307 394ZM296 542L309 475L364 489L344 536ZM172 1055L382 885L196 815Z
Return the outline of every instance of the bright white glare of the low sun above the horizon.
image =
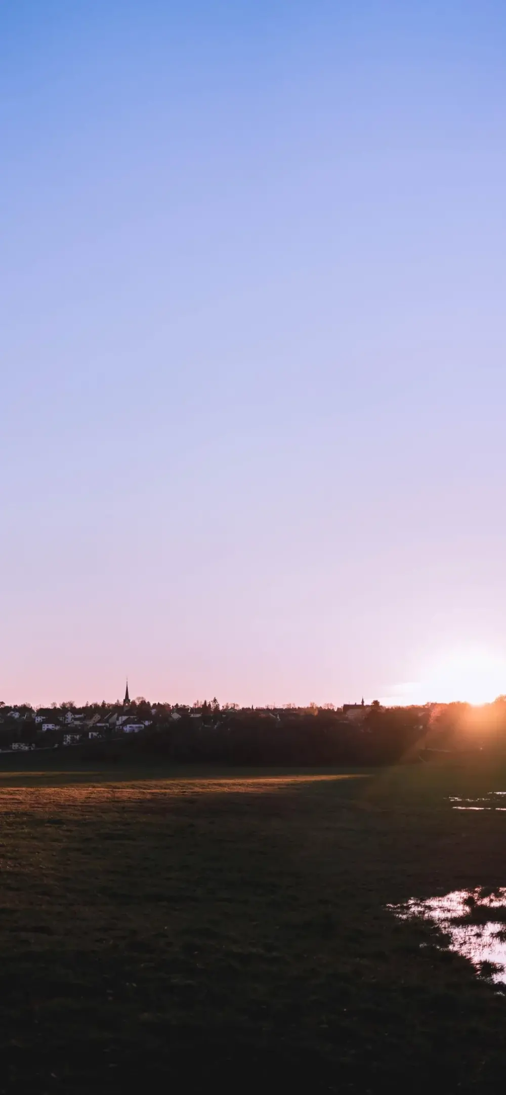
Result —
M419 679L399 684L388 696L389 703L409 704L491 703L506 693L506 658L485 649L441 652L427 661Z

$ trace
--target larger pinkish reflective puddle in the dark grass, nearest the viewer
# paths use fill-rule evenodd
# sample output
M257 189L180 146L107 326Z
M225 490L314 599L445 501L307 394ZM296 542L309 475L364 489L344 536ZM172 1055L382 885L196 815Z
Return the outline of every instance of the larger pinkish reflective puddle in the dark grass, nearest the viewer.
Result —
M448 936L449 950L468 958L481 977L506 984L506 887L452 890L387 908L400 920L430 920Z

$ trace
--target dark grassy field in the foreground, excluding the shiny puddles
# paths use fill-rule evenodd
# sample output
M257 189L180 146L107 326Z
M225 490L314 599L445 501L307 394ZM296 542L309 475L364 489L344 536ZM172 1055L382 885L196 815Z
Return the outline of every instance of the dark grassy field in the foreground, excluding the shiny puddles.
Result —
M447 800L506 775L214 774L0 771L0 1092L501 1091L506 996L386 906L506 884Z

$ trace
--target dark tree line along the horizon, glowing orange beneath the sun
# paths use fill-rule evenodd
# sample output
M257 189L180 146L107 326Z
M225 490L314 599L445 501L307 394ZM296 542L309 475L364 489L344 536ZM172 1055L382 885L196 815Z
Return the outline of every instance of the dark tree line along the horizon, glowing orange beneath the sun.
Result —
M103 703L79 711L88 717L114 708ZM13 734L21 740L36 740L31 710L20 707L22 718L15 723L4 714L0 742L13 740ZM49 710L64 727L67 712L76 708L61 704ZM116 705L116 710L124 708ZM138 696L128 710L138 718L149 716L149 725L128 738L117 729L104 729L102 740L87 744L88 756L100 758L113 740L114 748L131 757L150 754L177 763L370 766L445 759L445 754L506 756L504 696L483 707L459 703L383 707L376 701L364 713L353 712L356 718L330 704L273 710L228 704L220 708L216 699L188 707L151 704ZM45 736L45 744L53 740L58 742L57 733L53 738Z

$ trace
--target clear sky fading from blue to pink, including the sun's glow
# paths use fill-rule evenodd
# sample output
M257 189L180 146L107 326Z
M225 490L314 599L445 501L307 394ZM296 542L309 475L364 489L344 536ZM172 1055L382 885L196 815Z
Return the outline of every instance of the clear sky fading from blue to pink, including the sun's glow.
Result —
M3 0L4 702L506 692L505 47Z

